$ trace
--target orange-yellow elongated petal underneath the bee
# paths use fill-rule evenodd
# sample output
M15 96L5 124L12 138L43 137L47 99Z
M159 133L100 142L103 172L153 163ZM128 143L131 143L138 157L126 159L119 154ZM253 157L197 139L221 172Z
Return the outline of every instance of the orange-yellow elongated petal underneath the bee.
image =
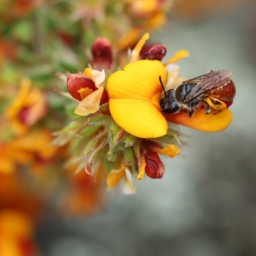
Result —
M184 125L189 128L203 132L220 132L223 131L232 122L232 112L229 109L223 109L219 113L210 113L206 115L204 109L195 111L195 115L188 117L187 112L178 114L164 114L169 122Z

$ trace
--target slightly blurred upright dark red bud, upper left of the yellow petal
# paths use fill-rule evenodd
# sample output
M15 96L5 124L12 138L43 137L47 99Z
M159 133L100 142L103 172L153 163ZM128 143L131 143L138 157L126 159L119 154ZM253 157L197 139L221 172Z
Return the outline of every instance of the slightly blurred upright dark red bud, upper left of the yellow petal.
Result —
M97 70L110 68L113 62L112 44L108 38L99 37L92 45L93 68Z

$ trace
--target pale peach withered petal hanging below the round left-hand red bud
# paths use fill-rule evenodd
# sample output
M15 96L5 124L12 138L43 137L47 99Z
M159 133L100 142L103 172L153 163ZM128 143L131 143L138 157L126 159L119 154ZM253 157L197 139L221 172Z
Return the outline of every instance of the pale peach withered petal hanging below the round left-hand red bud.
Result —
M81 100L75 109L75 114L80 116L86 116L92 113L95 113L99 110L100 107L100 99L102 97L104 87L100 86L100 88L93 93L89 94L83 100Z

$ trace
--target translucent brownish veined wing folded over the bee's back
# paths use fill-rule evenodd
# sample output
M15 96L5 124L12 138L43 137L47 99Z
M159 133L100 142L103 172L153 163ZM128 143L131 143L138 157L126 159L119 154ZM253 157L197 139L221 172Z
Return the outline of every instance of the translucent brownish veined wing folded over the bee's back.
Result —
M183 83L196 84L193 90L191 90L191 92L187 95L184 102L189 102L189 100L198 97L202 93L214 90L216 88L219 88L220 86L227 85L233 75L233 71L222 69L210 71L209 73L204 74L203 76L198 76L193 79L184 81Z

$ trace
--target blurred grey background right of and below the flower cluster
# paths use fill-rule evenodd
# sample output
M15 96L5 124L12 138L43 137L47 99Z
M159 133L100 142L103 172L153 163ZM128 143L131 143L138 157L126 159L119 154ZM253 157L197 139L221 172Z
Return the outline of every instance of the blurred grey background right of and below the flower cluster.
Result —
M89 217L48 214L36 232L42 255L256 255L256 3L188 2L151 39L168 56L189 51L181 76L234 70L232 124L212 134L182 128L191 138L181 156L163 157L163 179L138 181L136 195L112 191Z

